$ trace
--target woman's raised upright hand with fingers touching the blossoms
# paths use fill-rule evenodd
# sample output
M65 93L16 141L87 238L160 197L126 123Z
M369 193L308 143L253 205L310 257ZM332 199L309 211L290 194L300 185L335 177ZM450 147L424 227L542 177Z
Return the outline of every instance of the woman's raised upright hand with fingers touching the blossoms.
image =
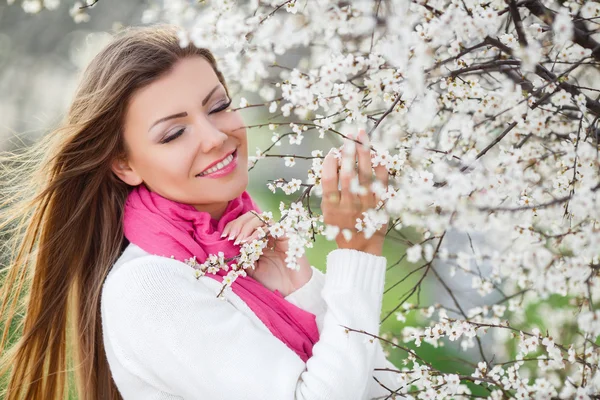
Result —
M360 130L357 140L365 146L356 145L353 141L347 141L344 144L342 167L339 174L338 161L334 156L333 149L325 157L321 173L321 184L323 186L321 209L324 223L340 228L340 232L335 238L338 248L354 249L380 256L383 250L387 223L369 239L365 237L363 232L359 232L355 225L357 218L364 218L362 215L364 211L375 208L380 201L380 198L371 189L373 170L375 170L377 180L384 187L388 185L389 175L383 165L372 167L369 137L364 130ZM352 193L350 190L350 184L356 177L354 161L357 158L358 182L360 186L366 188L366 192L362 194ZM338 183L341 191L338 189ZM344 238L343 229L349 229L352 232L350 240L347 241Z

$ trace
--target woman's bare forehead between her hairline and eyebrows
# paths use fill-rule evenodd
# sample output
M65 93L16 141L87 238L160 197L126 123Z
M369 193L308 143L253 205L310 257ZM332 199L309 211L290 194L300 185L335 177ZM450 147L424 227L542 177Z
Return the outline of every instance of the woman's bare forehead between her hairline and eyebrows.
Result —
M219 78L206 59L200 56L181 59L167 73L134 92L125 113L125 130L132 125L143 125L147 130L159 118L201 105L218 84ZM213 98L221 92L224 92L222 87Z

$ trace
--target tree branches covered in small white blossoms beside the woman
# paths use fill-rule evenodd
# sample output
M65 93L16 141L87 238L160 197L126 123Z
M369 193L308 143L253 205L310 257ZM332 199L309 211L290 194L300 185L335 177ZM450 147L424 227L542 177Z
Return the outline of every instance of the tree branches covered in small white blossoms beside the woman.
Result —
M21 3L28 12L58 5ZM75 3L71 15L85 22L101 7ZM273 143L249 168L280 157L296 169L297 179L265 182L290 196L283 218L262 215L271 235L289 237L289 267L315 236L339 233L314 205L323 151L306 143L369 133L391 184L374 183L384 201L356 231L372 235L389 220L389 240L408 245L389 262L410 262L402 280L415 282L384 320L427 317L380 338L406 355L390 398L600 398L599 3L167 0L142 19L179 25L182 45L210 48L229 82L262 98L239 107L271 114L262 126ZM277 62L297 52L296 64ZM281 154L285 142L298 151ZM407 228L420 239L406 239ZM457 234L468 248L448 246ZM239 265L264 246L245 245ZM219 255L190 262L198 275L226 264ZM240 274L231 269L227 282ZM429 280L448 304L421 301ZM481 296L474 307L457 293L464 281ZM452 342L469 351L471 373L440 371L420 351Z

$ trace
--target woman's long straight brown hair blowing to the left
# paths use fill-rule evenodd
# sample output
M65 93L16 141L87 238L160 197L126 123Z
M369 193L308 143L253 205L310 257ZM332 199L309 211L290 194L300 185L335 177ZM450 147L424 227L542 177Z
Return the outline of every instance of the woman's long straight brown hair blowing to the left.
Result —
M9 255L0 275L0 398L57 400L70 389L82 400L121 398L104 351L100 294L128 244L121 213L131 187L110 166L127 154L122 126L132 94L189 56L204 57L227 90L212 53L180 47L177 28L120 32L86 68L61 126L0 157Z

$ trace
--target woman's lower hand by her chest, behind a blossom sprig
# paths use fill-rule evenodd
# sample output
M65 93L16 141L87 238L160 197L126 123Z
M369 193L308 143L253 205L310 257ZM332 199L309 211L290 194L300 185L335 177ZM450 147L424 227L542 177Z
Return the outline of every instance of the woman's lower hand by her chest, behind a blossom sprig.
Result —
M222 237L229 235L230 240L235 239L234 244L251 243L260 237L259 228L269 232L269 228L260 218L252 212L247 212L225 225ZM288 268L285 262L287 250L288 239L285 236L277 239L268 237L267 247L263 249L254 270L247 268L246 274L271 291L277 290L283 296L291 294L310 280L312 269L306 255L298 259L300 270Z

